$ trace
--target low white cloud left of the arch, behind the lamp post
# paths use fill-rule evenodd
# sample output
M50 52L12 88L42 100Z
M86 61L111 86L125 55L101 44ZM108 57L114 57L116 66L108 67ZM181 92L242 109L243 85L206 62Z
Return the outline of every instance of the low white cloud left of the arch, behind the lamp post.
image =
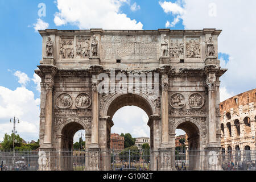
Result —
M20 123L16 130L25 140L39 138L39 98L34 98L34 93L25 87L10 90L0 86L0 140L5 133L11 134L13 123L10 118L17 117Z

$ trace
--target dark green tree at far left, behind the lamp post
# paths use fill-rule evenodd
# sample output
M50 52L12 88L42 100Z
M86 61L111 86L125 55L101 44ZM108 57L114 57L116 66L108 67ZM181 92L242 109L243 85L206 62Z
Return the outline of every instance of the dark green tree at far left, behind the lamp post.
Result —
M5 134L2 142L2 148L4 150L13 150L13 135L13 133L11 135ZM19 135L14 135L14 139L16 140L14 148L23 146L22 138L20 138Z

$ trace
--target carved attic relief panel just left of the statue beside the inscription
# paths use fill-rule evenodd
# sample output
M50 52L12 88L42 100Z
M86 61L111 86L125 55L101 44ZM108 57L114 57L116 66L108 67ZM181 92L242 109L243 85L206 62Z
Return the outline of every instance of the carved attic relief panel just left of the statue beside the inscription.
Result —
M90 38L77 37L76 58L85 59L90 57Z

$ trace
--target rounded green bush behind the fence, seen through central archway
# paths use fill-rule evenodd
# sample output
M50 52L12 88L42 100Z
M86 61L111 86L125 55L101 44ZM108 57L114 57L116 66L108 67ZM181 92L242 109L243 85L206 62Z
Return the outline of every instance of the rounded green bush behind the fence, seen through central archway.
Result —
M141 158L141 152L137 146L130 146L125 148L122 152L119 153L119 158L121 160L125 160L126 162L129 161L129 154L130 154L130 162L139 161Z

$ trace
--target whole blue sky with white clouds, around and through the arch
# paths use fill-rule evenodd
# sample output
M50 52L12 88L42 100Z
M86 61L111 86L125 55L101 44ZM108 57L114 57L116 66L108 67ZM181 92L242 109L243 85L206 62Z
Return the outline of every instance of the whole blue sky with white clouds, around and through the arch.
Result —
M46 5L46 16L38 15L39 3ZM40 80L34 70L42 58L42 37L35 30L36 26L59 30L221 29L218 58L221 67L229 69L221 78L223 101L256 85L256 22L251 18L256 16L254 7L253 0L246 3L240 0L232 3L220 0L0 0L0 141L4 133L10 133L8 121L14 115L24 121L18 127L20 135L25 140L38 139ZM134 108L126 107L121 111L130 113ZM113 132L121 131L122 127L134 137L141 137L139 133L149 136L149 128L143 129L146 126L144 113L139 110L131 123L142 121L140 131L122 126L125 121L122 122L122 114L118 117L117 113L114 118L120 124L114 125Z

